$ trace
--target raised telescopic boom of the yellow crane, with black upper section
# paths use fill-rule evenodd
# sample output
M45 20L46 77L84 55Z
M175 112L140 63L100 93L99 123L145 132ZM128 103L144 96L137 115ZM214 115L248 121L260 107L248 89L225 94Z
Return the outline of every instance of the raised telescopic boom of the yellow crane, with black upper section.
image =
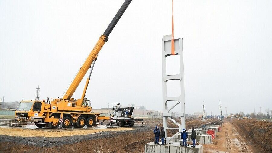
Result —
M79 86L79 83L82 81L83 77L87 73L88 69L92 65L93 61L96 60L97 55L105 42L108 41L108 36L112 32L113 28L125 12L125 10L128 8L128 5L131 3L132 0L125 0L121 8L116 13L115 17L112 19L111 23L108 25L108 28L105 30L105 32L99 37L99 40L97 41L96 45L93 47L91 53L83 63L82 67L80 67L79 72L77 73L76 77L74 78L73 82L69 86L68 90L66 91L65 95L63 96L63 100L70 100L70 98L73 96L74 92L76 91L76 88ZM78 101L79 103L77 105L81 105L81 101Z

